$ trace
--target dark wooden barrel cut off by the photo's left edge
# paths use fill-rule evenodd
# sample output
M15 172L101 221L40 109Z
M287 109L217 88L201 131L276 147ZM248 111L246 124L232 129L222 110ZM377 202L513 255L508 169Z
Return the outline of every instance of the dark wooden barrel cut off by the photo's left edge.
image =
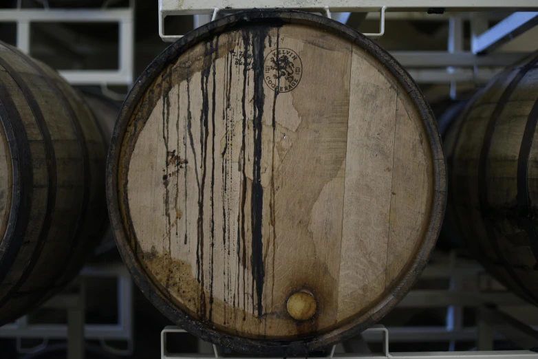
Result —
M105 140L50 67L0 43L0 325L73 279L104 229Z

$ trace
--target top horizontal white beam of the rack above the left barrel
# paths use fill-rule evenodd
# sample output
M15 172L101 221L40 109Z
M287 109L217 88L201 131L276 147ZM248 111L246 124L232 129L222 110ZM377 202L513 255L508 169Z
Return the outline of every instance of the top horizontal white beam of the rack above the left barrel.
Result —
M133 17L132 8L114 9L1 9L0 22L13 21L58 21L67 22L101 22L122 21Z

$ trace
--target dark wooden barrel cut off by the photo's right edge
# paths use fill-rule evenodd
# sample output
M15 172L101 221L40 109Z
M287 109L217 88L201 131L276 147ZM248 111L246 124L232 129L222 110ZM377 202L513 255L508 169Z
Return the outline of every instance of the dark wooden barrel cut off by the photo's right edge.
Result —
M538 304L538 53L476 94L444 143L447 219L482 265Z

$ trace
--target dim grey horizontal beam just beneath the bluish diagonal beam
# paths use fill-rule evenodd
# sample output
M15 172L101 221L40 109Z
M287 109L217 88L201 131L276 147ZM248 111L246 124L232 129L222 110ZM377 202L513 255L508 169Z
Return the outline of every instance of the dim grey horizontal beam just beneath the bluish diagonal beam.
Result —
M404 67L504 67L519 61L528 53L501 52L478 56L472 52L392 51L391 55Z

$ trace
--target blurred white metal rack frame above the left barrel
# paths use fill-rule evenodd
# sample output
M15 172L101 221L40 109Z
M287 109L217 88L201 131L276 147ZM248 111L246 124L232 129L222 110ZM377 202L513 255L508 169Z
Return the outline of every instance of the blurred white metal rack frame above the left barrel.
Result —
M127 85L133 83L134 0L127 8L50 9L0 8L0 22L17 23L17 47L30 52L30 23L32 22L116 22L118 23L118 69L60 70L72 85Z

